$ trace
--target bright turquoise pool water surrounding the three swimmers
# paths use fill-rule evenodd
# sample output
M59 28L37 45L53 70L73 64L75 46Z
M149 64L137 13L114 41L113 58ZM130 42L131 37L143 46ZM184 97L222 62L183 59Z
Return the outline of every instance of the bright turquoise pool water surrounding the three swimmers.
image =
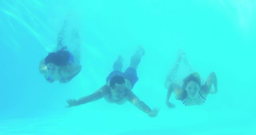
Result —
M39 62L65 20L80 34L82 71L47 83ZM65 107L104 85L118 55L128 67L138 45L145 56L133 92L157 117L104 99ZM255 45L254 0L1 0L0 135L254 135ZM216 72L218 93L204 105L186 107L173 95L176 107L165 105L179 49L204 80Z

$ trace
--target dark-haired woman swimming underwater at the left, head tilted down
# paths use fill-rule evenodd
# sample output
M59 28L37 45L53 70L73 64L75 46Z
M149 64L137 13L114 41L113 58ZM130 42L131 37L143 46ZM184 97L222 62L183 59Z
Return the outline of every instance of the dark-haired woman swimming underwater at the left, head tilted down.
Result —
M39 71L42 73L46 81L53 83L59 81L60 83L67 83L74 78L81 71L82 66L79 64L78 58L68 51L64 46L64 32L66 23L60 30L57 38L57 51L51 52L41 60ZM74 32L74 37L79 39L77 32Z

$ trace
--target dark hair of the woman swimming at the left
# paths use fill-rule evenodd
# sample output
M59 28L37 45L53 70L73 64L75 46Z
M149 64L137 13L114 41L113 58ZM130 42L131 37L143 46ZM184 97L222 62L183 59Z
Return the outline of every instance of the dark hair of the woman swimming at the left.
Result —
M60 50L58 52L49 53L44 59L45 64L53 63L57 66L65 66L68 64L70 58L70 53L65 50Z

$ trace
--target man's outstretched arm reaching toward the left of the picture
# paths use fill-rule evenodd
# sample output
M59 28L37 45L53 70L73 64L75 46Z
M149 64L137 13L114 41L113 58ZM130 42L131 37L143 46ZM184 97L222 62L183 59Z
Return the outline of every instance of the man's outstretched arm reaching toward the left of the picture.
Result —
M106 86L104 85L101 89L98 89L97 91L95 91L91 95L87 95L87 96L82 97L78 100L76 100L76 99L67 100L67 102L68 102L67 107L77 106L77 105L89 103L89 102L92 102L92 101L96 101L96 100L101 99L102 97L104 97L105 94L106 94Z

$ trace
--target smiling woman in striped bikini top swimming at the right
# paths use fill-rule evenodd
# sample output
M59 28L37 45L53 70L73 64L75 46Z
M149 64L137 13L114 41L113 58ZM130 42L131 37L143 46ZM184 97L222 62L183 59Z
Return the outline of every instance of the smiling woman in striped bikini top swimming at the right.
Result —
M183 80L177 79L181 62L183 62L190 72ZM214 85L214 89L212 89L212 85ZM174 67L166 77L164 86L168 89L166 105L170 108L174 107L174 105L169 102L172 92L175 94L176 99L181 100L184 105L190 106L202 105L206 101L206 97L209 93L216 93L218 91L216 74L211 72L206 82L202 83L200 75L192 71L184 52L179 53Z

